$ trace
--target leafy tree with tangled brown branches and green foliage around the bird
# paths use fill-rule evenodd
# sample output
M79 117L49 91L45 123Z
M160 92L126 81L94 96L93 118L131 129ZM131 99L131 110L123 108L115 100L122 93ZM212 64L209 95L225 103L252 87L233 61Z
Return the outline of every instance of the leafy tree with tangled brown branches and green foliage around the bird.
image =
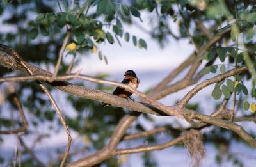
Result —
M188 148L193 164L198 166L204 158L206 143L214 143L220 150L216 157L218 163L223 161L225 154L229 161L243 165L236 155L230 153L230 144L236 141L256 147L255 131L248 129L248 122L255 122L253 113L256 111L254 1L2 2L0 81L6 83L0 87L3 92L1 101L4 102L0 106L0 133L3 134L1 141L5 139L4 134L17 134L22 146L18 151L22 155L22 166L63 166L65 163L67 166L118 166L117 155L138 152L145 152L145 166L156 166L151 151L180 145ZM124 29L124 24L140 26L140 21L148 19L141 17L141 12L152 13L150 19L154 24L145 29L149 29L147 32L161 46L168 47L170 38L188 38L195 52L147 93L102 80L106 77L104 75L71 74L76 62L84 58L84 53L98 54L100 60L108 63L104 51L99 51L102 43L121 45L125 40L132 41L134 47L147 49L145 40ZM179 34L173 33L170 24L179 25ZM63 61L65 55L72 56L70 62ZM39 67L44 67L44 70ZM54 67L53 74L49 72L51 67ZM184 75L184 71L188 72ZM207 79L202 81L205 75ZM176 77L180 80L173 81ZM71 84L67 82L70 79L80 80ZM130 89L141 100L133 102L105 93L109 84L111 88ZM200 111L200 104L188 104L198 91L204 91L211 84L215 84L212 103L214 99L222 99L215 111ZM166 106L157 101L191 85L193 89L175 105ZM51 95L56 89L66 92L61 96L65 104L76 111L75 115L61 114L59 104ZM104 108L106 111L102 113L96 107L99 101L117 107ZM129 112L124 112L123 108ZM248 109L252 113L244 112ZM147 131L143 123L137 122L141 116L154 124L154 129ZM170 121L159 127L154 122L157 116L175 116L185 119L191 126L175 128ZM64 148L56 150L56 157L45 164L44 159L36 155L35 145L51 136L52 132L64 131L60 122L68 134L67 148L65 152ZM245 123L242 127L238 122ZM40 132L42 124L49 127L46 134ZM202 135L201 132L211 125L214 129ZM67 126L90 144L69 152L72 135ZM166 132L169 141L161 143L157 137L159 132ZM35 141L28 142L31 135L35 136ZM145 138L148 145L117 147L121 142L138 138ZM85 150L98 151L81 156ZM77 159L77 154L82 158ZM3 164L8 161L2 158Z

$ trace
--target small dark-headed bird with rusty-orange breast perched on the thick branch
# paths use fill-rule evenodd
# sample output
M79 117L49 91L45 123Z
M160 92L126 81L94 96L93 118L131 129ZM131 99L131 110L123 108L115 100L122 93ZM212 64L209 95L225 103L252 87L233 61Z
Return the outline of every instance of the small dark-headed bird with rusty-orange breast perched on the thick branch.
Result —
M124 73L124 79L121 83L127 84L127 85L131 86L132 88L136 89L139 86L140 79L138 79L138 77L136 76L136 74L133 70L127 70ZM132 91L126 90L126 89L120 88L120 87L117 87L113 91L113 95L117 95L118 97L122 97L122 98L128 98L132 95L132 93L133 93ZM130 97L130 99L131 99L131 97ZM110 104L102 103L99 106L101 106L101 105L102 105L102 107L106 107L106 106L109 106Z

